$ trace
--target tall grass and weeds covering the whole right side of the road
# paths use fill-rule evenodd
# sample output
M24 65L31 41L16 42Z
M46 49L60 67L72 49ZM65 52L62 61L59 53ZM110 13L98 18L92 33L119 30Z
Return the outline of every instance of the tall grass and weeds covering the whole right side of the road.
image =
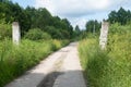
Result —
M130 28L130 25L111 25L105 51L99 49L96 38L80 42L79 52L88 87L131 87Z

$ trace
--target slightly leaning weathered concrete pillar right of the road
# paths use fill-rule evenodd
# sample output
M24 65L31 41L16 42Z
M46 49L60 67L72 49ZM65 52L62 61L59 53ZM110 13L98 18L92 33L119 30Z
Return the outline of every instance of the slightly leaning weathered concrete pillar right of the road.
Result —
M107 45L107 36L108 36L108 28L109 28L109 23L108 22L103 22L102 23L102 28L100 28L100 37L99 37L99 46L102 49L106 49Z

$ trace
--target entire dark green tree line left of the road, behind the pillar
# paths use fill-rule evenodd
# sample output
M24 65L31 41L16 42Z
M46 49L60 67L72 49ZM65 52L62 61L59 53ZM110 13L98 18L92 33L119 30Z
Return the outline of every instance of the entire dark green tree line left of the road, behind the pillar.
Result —
M34 28L38 28L56 39L71 39L74 35L73 27L67 18L52 16L45 8L27 7L23 9L11 0L0 0L0 21L4 21L7 24L19 22L22 37Z

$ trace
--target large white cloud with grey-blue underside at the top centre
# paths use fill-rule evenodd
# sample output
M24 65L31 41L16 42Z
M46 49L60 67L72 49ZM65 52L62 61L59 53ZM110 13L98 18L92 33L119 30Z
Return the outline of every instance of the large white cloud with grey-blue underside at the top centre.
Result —
M36 0L36 8L47 8L51 13L63 16L85 15L109 4L109 0Z

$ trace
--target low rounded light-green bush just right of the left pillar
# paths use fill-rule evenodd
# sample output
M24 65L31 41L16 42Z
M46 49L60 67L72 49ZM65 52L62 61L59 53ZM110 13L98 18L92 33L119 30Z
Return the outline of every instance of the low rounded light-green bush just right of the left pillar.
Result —
M39 28L34 28L26 33L25 38L29 40L48 40L51 39L51 36Z

